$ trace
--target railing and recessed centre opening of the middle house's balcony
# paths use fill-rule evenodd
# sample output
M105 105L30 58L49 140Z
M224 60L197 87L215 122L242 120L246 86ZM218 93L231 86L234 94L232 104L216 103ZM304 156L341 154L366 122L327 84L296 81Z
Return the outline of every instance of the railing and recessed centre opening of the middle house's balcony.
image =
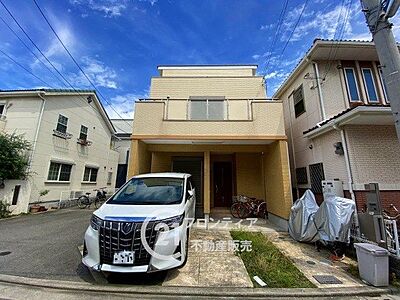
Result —
M164 103L163 119L170 121L251 121L253 106L259 103L276 102L273 98L253 99L184 99L165 98L139 99L140 102ZM201 107L199 102L203 102ZM196 107L197 106L197 107ZM201 110L199 112L199 110Z

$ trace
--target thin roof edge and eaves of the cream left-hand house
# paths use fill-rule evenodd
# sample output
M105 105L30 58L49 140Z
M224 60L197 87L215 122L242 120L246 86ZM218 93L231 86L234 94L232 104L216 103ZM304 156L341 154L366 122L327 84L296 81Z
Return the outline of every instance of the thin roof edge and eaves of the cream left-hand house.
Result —
M89 94L94 95L94 103L96 104L97 108L100 111L104 121L106 122L107 126L109 127L110 131L115 134L116 130L114 125L112 124L103 104L101 103L99 96L97 95L95 90L82 90L82 89L20 89L20 90L0 90L0 97L7 95L7 94L19 94L20 96L26 96L31 93L48 93L48 94Z

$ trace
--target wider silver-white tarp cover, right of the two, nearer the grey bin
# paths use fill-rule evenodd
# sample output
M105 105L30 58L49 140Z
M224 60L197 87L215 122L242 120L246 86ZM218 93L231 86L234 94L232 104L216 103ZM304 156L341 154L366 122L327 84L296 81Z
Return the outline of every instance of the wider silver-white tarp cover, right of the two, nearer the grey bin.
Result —
M327 197L314 216L320 240L349 243L355 206L351 199Z

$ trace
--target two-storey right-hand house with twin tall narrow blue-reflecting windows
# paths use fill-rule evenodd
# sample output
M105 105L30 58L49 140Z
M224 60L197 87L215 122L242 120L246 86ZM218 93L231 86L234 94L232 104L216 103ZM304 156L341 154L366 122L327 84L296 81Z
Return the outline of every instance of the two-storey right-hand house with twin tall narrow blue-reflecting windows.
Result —
M400 144L372 42L315 40L274 97L284 103L292 182L322 201L321 180L339 179L365 208L379 183L400 209Z

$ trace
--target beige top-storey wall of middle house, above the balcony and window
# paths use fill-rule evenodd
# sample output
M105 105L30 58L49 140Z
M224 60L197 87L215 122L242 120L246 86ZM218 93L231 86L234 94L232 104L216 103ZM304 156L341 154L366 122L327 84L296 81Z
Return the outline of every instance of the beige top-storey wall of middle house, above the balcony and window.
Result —
M188 99L190 96L223 96L228 99L266 98L263 78L153 77L150 98Z

